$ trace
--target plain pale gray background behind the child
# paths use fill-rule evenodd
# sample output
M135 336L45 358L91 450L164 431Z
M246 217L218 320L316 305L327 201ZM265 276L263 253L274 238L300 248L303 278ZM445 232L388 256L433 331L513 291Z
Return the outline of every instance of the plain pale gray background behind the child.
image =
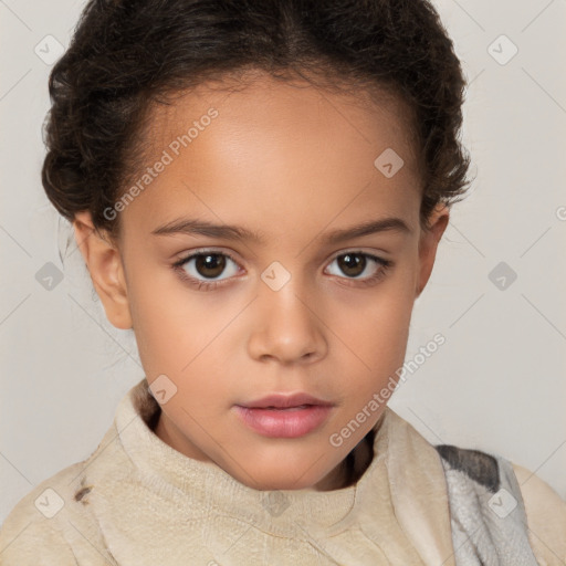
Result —
M83 6L0 0L0 521L94 451L144 376L74 241L62 263L69 224L40 179L48 52L69 44ZM566 2L436 6L470 81L463 142L476 177L417 301L407 359L438 332L447 342L390 406L433 443L501 453L566 497Z

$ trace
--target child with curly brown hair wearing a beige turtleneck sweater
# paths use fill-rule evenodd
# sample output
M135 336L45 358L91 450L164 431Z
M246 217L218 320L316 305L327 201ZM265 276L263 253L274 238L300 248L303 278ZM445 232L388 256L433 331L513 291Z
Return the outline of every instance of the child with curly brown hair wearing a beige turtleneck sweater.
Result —
M145 377L2 566L565 564L548 485L387 407L463 92L427 0L87 3L42 179Z

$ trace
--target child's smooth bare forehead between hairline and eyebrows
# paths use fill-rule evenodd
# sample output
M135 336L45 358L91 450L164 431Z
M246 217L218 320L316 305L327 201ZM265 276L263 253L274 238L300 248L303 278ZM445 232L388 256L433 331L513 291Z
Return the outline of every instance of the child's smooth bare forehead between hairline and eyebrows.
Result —
M292 231L298 221L326 224L337 214L344 224L365 210L417 221L409 109L385 92L336 93L270 76L203 83L154 107L143 136L146 166L166 154L168 161L125 211L146 231L196 209L265 233L274 221ZM379 169L382 155L402 159L395 176Z

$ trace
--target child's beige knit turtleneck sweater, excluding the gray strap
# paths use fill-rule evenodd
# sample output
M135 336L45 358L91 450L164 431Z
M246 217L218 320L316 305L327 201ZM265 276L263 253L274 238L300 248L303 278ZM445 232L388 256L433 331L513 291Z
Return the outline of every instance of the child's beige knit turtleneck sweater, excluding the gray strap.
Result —
M93 454L12 510L0 530L0 565L454 566L439 455L391 409L355 484L273 492L170 448L151 428L158 410L143 379ZM566 505L533 478L528 522L545 537L533 549L541 564L555 564L553 556L566 557ZM547 527L545 507L556 526Z

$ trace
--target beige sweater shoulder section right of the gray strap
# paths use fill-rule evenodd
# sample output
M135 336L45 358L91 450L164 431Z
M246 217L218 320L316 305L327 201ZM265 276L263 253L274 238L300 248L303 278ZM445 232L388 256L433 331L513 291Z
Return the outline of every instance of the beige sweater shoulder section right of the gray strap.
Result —
M566 563L566 502L536 474L512 463L521 488L531 545L541 564Z

